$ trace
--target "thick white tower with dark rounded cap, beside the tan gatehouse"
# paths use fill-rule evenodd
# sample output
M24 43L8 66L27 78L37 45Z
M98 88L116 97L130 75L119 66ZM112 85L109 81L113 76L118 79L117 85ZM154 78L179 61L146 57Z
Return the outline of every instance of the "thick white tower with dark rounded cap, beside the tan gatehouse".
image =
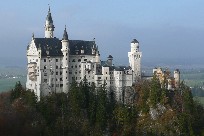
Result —
M139 42L136 39L130 44L131 51L128 52L129 64L132 70L134 71L133 82L141 79L141 57L142 52L139 52Z

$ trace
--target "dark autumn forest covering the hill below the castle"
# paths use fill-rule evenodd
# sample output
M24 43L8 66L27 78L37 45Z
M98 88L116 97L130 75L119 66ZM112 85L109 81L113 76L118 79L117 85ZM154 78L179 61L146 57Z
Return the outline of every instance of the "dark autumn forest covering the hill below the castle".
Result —
M0 135L9 136L197 136L204 135L204 109L183 82L167 90L154 76L133 86L131 102L117 101L106 84L86 78L68 93L41 97L23 88L0 94Z

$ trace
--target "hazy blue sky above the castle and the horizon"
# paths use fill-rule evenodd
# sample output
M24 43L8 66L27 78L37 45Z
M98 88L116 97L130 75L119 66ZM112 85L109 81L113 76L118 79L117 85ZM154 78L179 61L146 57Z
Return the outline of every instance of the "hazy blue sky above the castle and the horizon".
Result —
M101 59L128 65L130 42L140 42L142 63L203 63L204 0L1 0L0 66L26 66L26 47L44 37L48 4L61 39L93 40Z

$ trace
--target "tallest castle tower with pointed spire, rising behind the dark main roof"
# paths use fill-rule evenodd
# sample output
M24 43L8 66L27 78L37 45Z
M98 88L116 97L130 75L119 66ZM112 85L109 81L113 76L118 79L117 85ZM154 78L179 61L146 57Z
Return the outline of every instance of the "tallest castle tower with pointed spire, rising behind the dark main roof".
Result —
M48 14L45 21L45 38L53 38L54 28L55 27L53 25L52 15L49 7Z

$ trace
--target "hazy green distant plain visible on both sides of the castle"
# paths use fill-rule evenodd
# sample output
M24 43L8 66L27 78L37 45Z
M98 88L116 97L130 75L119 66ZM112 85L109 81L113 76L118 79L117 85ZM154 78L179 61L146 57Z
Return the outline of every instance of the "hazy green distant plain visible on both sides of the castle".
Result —
M151 72L152 68L146 68ZM171 70L172 71L172 70ZM204 68L180 69L181 80L189 87L204 88ZM24 67L1 67L0 68L0 92L9 91L14 88L15 83L20 81L23 86L26 83L26 68ZM204 90L203 90L204 91ZM204 97L196 96L195 100L204 105Z

